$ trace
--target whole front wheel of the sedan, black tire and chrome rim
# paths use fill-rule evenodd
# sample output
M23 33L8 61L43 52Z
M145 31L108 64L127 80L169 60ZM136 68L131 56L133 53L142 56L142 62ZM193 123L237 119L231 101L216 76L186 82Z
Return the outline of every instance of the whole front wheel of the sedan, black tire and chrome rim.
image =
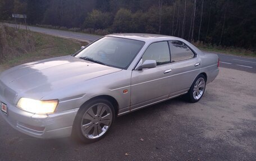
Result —
M90 100L77 112L72 136L85 143L98 141L106 136L115 116L115 109L108 100Z

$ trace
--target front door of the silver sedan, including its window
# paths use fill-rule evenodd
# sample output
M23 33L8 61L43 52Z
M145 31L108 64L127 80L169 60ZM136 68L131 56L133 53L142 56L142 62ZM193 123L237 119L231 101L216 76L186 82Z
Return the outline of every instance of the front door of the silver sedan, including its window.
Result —
M170 93L170 50L168 42L150 44L142 57L156 60L157 67L132 71L131 110L168 98Z

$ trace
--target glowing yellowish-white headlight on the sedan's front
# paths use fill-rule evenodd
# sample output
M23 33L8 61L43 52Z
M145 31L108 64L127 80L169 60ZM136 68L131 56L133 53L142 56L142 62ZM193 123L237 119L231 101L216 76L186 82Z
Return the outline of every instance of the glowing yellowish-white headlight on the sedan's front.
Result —
M21 98L17 107L37 114L53 113L58 105L58 100L35 100L30 98Z

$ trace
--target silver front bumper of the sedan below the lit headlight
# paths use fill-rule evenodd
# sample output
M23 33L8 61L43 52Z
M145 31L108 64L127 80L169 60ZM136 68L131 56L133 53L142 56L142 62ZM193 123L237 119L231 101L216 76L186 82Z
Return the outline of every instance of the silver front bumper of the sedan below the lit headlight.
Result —
M0 115L13 128L24 134L43 139L70 136L72 125L79 109L40 115L17 108L4 100L1 95L0 101L7 104L7 114L0 111Z

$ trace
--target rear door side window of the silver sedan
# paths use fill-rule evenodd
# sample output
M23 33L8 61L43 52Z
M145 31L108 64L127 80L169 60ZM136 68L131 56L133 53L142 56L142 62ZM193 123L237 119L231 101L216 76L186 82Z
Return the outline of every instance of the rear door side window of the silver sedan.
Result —
M183 61L194 58L194 53L190 48L180 41L170 41L171 60L172 62Z

